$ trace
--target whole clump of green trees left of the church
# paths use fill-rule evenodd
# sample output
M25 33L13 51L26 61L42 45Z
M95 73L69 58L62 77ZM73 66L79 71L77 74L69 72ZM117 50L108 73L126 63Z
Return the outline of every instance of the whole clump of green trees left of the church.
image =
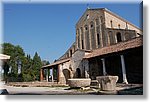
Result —
M4 77L11 81L35 81L40 79L40 68L42 65L49 64L48 61L41 61L40 56L36 52L33 59L29 54L25 55L23 48L19 45L11 43L2 44L3 53L10 57L7 63L4 63ZM18 74L18 62L21 62L21 73ZM19 65L20 65L19 64ZM8 74L11 67L11 73Z

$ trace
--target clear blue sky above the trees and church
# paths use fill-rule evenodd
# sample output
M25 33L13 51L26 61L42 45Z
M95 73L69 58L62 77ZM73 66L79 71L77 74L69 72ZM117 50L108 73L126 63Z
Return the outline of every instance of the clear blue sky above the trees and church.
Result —
M107 8L140 27L138 3L90 3L89 7ZM75 41L75 24L86 8L86 3L4 3L3 41L53 62Z

